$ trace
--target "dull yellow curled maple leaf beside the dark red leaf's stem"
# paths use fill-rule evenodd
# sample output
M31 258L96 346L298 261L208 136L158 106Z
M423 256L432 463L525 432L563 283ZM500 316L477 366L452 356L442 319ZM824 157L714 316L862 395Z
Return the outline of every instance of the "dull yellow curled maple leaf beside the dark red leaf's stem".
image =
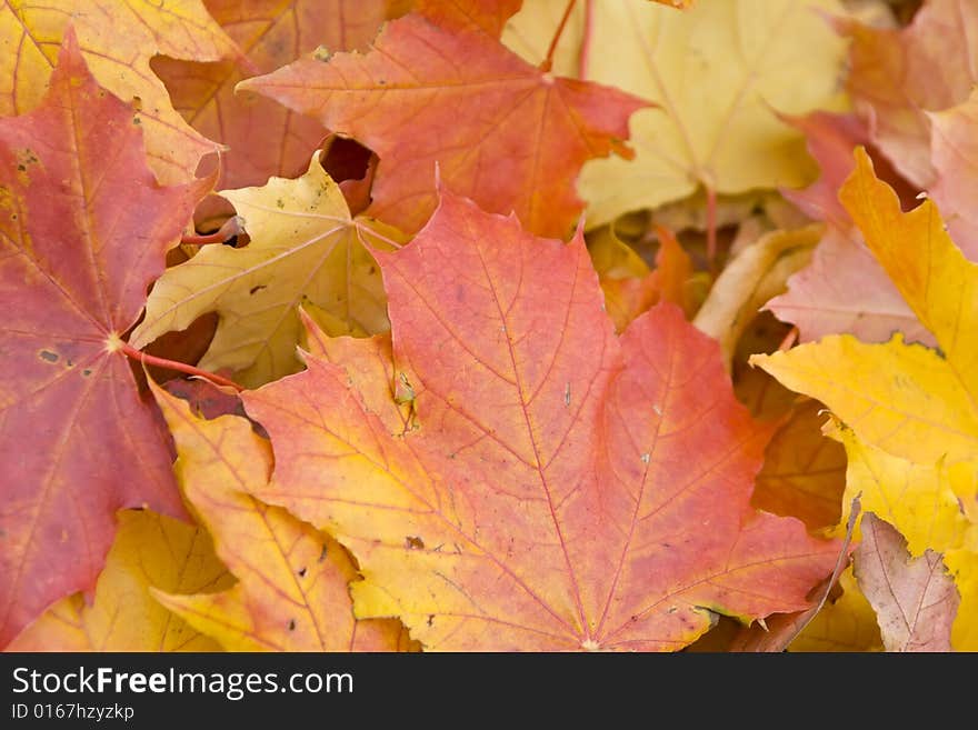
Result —
M241 249L210 246L156 282L146 318L132 333L141 348L200 314L220 314L199 366L230 368L257 386L295 372L300 324L296 307L315 304L333 334L388 328L380 272L368 251L400 244L392 228L353 218L342 191L319 163L301 178L272 178L261 188L223 190L251 237Z

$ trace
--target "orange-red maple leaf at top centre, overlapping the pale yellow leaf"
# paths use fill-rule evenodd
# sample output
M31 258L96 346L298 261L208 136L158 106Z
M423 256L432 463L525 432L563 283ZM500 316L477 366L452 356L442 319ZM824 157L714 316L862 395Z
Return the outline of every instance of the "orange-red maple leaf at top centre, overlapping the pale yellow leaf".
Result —
M628 117L647 102L529 66L485 21L459 20L457 9L479 10L478 0L433 4L456 10L433 20L405 16L387 23L366 54L306 57L238 89L376 151L381 163L367 212L406 232L435 209L437 164L447 186L483 208L516 211L543 236L567 234L582 207L568 181L588 159L631 157L622 142ZM441 27L439 18L450 21Z

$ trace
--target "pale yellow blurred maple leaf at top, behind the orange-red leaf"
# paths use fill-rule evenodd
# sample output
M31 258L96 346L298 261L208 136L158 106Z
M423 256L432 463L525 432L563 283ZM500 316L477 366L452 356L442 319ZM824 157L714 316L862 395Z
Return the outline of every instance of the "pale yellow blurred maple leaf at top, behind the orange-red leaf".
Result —
M526 58L539 59L547 48L536 17L565 4L527 3L513 18L510 38L521 41ZM581 10L570 31L579 44L565 51L575 59L568 66L656 104L631 118L635 160L585 166L579 190L588 226L686 198L700 186L739 193L808 182L802 137L778 112L839 106L845 42L818 11L844 13L836 0L727 0L685 12L600 2L585 32ZM613 53L595 52L610 48Z

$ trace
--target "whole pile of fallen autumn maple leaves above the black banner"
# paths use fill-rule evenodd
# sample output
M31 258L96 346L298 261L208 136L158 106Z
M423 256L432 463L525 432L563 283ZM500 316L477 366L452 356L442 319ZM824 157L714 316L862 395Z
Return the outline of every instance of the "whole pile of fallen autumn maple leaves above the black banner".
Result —
M976 39L7 3L0 647L978 650Z

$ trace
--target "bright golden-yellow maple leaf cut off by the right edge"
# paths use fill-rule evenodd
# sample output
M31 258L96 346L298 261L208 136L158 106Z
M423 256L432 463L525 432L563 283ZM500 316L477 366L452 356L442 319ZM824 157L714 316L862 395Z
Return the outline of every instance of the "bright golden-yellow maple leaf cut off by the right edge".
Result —
M897 333L882 346L826 337L755 362L829 406L869 444L927 464L970 458L978 453L978 266L950 240L931 201L904 213L866 152L856 157L840 199L944 357Z

